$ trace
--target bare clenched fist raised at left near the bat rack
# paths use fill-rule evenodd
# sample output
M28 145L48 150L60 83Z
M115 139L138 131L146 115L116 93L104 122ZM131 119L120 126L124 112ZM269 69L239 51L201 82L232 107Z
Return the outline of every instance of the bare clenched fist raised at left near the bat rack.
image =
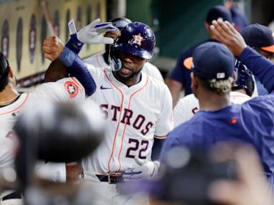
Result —
M64 50L64 45L57 36L49 36L43 42L43 55L50 61L58 58Z

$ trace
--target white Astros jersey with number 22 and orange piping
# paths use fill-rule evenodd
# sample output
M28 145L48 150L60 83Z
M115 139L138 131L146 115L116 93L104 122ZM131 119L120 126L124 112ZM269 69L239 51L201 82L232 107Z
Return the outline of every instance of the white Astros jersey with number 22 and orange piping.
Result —
M85 178L98 182L94 174L138 167L134 157L151 160L154 137L165 139L173 128L172 99L164 83L145 73L128 88L108 68L87 66L97 85L88 100L104 112L106 138L82 165Z

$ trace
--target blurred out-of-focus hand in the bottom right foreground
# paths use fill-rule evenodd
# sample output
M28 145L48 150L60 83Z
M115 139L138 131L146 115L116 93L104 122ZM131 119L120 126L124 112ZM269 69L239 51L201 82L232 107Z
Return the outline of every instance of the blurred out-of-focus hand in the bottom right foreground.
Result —
M263 167L255 150L241 147L233 155L238 165L238 180L220 180L210 184L210 199L231 205L273 204L273 194L263 176Z

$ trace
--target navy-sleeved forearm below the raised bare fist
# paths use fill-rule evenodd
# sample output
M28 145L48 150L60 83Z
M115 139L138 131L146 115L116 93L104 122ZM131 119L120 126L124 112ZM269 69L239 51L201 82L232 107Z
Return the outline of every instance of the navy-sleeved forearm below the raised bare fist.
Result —
M83 88L85 88L87 96L92 95L96 91L96 83L91 73L89 73L88 68L86 68L86 65L76 53L73 53L65 46L64 51L59 56L59 60L66 65L68 72L80 81Z

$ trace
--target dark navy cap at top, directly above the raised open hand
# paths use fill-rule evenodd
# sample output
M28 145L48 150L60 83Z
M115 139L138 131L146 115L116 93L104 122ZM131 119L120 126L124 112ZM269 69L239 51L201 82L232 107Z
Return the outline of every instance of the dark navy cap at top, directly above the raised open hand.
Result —
M213 20L217 19L223 19L223 21L229 21L232 22L232 16L228 9L225 8L225 6L214 6L212 9L208 11L208 14L206 15L206 23L212 24Z

